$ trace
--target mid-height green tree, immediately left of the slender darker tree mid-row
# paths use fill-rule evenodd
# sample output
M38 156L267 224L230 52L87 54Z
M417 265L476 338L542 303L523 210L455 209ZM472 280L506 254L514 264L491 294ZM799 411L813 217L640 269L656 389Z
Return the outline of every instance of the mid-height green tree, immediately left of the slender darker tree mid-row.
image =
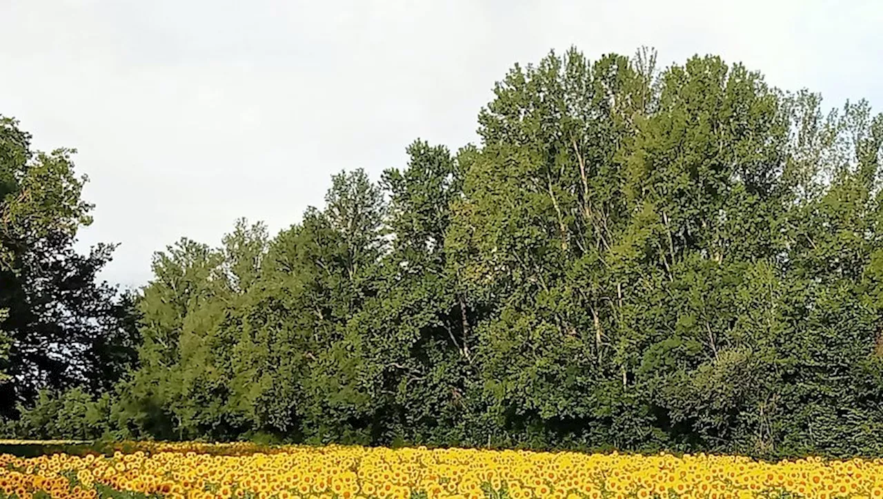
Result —
M385 212L381 190L363 170L341 172L326 207L307 209L301 223L270 244L264 285L273 292L265 306L275 314L260 331L265 355L283 361L280 372L265 361L263 375L275 378L268 395L282 390L298 398L272 397L268 407L288 414L286 427L312 442L370 442L374 431L363 382L371 366L350 321L377 296Z

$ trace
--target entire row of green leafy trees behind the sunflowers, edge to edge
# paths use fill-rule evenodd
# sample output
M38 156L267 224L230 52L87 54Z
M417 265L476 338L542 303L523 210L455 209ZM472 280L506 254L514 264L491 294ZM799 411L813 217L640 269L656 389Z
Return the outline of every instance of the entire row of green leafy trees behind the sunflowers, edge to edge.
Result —
M570 49L478 122L120 294L71 152L4 120L4 431L883 455L883 115Z

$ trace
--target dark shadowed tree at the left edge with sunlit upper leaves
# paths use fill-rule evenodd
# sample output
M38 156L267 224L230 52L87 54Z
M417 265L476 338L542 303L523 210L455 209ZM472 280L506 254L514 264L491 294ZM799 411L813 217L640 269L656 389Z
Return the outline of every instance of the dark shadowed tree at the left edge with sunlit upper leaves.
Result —
M0 386L4 415L40 389L106 389L126 368L101 372L112 338L132 337L132 321L116 290L96 282L113 246L73 249L92 208L80 198L87 179L74 174L73 153L34 153L30 135L0 118L0 330L9 336L0 372L14 378Z

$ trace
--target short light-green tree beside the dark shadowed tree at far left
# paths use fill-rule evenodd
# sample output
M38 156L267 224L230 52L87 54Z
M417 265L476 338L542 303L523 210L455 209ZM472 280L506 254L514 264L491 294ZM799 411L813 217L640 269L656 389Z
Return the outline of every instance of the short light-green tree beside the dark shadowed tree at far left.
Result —
M182 238L156 253L142 291L140 369L120 397L121 426L160 438L230 438L247 423L230 404L230 366L221 348L234 291L223 252Z

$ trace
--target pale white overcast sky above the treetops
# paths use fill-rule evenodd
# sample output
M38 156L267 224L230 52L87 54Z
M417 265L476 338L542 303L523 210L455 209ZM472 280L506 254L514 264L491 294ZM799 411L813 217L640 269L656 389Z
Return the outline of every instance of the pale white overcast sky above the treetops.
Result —
M476 140L494 81L549 49L713 53L880 110L880 26L879 0L0 0L0 114L79 150L80 244L121 243L102 277L135 286L177 238L217 245L239 216L275 233L333 172Z

